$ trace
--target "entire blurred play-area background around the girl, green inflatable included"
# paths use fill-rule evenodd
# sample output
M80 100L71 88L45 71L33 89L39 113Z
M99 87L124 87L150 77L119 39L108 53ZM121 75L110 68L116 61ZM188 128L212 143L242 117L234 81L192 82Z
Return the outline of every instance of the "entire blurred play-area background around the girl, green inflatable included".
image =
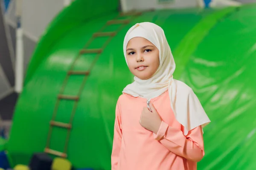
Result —
M198 170L256 170L256 0L0 0L1 168L111 170L140 22L163 28L212 121Z

